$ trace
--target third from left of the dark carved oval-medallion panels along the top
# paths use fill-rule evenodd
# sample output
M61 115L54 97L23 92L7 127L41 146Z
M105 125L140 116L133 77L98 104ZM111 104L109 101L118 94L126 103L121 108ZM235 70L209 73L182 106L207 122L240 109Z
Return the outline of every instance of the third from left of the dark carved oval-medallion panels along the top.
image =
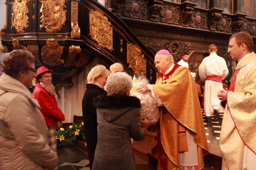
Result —
M193 11L189 23L191 27L207 29L207 13Z

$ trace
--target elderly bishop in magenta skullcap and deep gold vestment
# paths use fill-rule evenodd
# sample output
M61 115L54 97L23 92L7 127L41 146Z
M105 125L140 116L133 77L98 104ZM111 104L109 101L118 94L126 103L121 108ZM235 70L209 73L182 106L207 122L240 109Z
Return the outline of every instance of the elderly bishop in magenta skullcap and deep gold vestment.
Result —
M202 169L209 152L195 80L167 50L156 53L155 64L156 84L141 85L138 92L151 92L161 106L159 122L151 125L157 169Z

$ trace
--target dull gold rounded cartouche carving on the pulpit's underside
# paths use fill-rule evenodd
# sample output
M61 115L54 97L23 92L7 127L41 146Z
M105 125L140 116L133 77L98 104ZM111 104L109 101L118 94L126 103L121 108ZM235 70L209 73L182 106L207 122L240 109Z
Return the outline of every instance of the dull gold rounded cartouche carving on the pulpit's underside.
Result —
M58 45L58 41L54 38L48 39L46 45L41 49L41 57L43 63L50 66L58 66L64 64L64 60L61 60L64 46Z

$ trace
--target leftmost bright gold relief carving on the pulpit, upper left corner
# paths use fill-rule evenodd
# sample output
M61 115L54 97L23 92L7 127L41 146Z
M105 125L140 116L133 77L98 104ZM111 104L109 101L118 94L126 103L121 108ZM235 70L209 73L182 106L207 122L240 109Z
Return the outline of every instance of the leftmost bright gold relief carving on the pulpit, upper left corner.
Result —
M12 26L17 33L24 33L28 28L28 6L27 0L14 0L12 5Z

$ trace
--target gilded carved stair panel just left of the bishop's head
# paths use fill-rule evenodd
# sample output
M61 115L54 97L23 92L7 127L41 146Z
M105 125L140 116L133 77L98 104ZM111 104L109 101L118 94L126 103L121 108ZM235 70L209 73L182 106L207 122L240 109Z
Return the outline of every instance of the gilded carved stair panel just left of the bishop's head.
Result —
M136 76L146 75L146 61L140 48L127 43L127 63Z

